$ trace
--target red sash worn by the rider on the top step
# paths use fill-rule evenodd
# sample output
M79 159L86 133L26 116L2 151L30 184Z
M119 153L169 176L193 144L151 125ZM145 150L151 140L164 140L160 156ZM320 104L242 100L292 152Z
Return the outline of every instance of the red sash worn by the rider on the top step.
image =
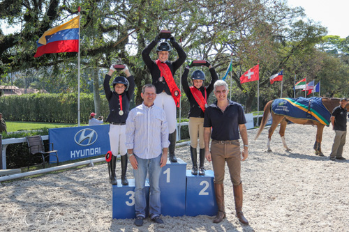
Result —
M158 65L158 69L160 70L160 76L165 78L165 81L168 84L168 88L170 88L170 92L174 100L174 103L176 103L176 106L179 107L181 91L177 87L176 82L174 82L170 67L168 67L167 64L161 62L159 59L156 60L156 64Z

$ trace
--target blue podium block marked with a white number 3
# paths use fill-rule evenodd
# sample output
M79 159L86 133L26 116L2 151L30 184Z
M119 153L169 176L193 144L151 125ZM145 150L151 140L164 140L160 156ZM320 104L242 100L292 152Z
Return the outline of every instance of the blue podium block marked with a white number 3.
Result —
M149 183L147 180L145 196L147 199L145 212L148 217ZM112 218L135 218L135 179L128 179L128 185L121 185L121 180L117 180L117 185L112 185Z

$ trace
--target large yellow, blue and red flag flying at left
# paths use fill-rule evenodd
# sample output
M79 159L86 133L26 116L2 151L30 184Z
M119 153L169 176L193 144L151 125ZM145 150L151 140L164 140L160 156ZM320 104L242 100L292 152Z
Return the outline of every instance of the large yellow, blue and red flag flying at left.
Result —
M38 49L34 57L47 53L79 52L79 17L45 31L36 41Z

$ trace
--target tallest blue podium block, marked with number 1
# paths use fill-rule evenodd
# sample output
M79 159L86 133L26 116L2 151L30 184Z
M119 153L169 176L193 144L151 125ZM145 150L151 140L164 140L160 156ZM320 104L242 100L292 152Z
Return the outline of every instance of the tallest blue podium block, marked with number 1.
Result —
M160 176L161 214L171 217L186 213L186 162L177 160L168 160Z

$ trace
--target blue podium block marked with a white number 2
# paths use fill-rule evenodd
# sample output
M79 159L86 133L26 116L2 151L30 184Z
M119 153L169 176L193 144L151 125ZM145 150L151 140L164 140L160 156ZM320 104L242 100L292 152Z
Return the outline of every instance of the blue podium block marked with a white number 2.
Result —
M186 170L186 215L214 216L217 210L214 171L206 170L205 176L193 176L191 170Z

